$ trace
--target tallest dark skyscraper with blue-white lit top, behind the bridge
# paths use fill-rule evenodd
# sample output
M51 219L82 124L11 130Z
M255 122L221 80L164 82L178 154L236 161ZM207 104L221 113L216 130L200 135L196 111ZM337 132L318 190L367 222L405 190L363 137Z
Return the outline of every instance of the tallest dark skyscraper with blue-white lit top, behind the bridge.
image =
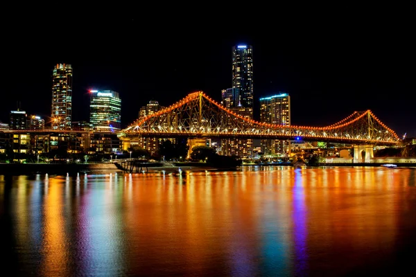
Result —
M240 89L241 105L253 106L253 48L238 45L232 48L232 87Z

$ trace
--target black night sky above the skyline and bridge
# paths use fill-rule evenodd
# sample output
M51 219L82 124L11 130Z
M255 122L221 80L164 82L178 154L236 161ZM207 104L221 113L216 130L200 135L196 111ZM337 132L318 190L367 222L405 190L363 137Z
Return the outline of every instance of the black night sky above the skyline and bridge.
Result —
M73 120L89 119L93 88L120 93L123 127L149 100L168 106L198 90L220 100L221 89L231 87L232 46L251 44L254 98L289 93L293 125L329 125L371 109L399 136L416 136L415 44L406 15L280 15L245 24L221 17L40 18L7 21L3 122L17 101L29 114L50 116L57 63L73 66Z

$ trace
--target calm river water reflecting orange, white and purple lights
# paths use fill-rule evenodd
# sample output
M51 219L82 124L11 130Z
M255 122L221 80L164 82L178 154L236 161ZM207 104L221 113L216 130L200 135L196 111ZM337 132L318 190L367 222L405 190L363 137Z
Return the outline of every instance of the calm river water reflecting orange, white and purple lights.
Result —
M2 276L383 276L416 269L416 170L0 175Z

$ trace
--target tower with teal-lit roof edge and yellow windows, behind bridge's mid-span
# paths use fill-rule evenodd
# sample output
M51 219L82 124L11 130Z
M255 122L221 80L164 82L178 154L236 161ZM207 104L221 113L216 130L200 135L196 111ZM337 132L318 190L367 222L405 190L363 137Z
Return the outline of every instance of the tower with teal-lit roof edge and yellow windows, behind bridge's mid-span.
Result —
M288 93L260 98L260 121L275 125L291 125L291 97ZM289 141L262 139L261 152L266 157L286 157Z

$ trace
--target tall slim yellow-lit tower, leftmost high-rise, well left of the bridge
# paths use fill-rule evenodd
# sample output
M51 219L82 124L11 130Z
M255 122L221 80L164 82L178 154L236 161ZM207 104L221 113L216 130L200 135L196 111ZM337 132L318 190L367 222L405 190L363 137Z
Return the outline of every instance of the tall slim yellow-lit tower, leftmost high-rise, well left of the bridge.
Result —
M56 64L52 75L52 129L71 129L72 67Z

